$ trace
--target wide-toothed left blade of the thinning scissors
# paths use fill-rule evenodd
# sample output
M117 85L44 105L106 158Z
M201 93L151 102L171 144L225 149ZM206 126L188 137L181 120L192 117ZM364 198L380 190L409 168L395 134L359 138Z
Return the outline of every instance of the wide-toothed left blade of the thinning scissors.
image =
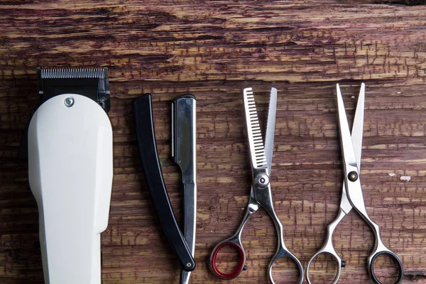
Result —
M243 94L251 165L253 168L263 168L266 167L267 161L265 155L265 148L263 146L261 127L256 111L256 104L254 102L253 97L253 90L251 88L246 88L244 89Z

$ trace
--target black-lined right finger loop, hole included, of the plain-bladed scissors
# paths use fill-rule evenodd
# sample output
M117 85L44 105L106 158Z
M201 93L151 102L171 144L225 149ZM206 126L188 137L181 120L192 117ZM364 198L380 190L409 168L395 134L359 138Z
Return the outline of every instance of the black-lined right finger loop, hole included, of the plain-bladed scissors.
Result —
M402 265L390 253L380 253L373 258L371 273L382 284L400 283Z

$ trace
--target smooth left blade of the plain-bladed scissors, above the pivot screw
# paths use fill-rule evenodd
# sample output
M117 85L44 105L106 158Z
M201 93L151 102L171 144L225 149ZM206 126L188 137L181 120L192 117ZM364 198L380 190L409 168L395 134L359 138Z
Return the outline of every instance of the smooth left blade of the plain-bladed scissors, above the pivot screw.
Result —
M340 92L339 84L336 85L337 91L337 110L339 112L339 131L340 131L340 143L342 147L342 155L344 163L356 167L356 157L354 152L354 144L351 139L351 131L349 131L348 119L346 117L346 111L344 110L344 104L342 99L342 93Z

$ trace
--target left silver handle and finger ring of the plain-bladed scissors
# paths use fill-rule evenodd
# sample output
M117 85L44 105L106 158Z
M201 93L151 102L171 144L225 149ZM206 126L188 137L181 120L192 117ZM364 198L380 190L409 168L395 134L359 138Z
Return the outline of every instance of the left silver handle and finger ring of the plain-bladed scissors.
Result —
M331 255L334 258L334 261L336 261L336 263L337 263L337 273L336 273L336 276L334 277L332 284L336 284L337 281L339 280L340 272L342 271L342 267L345 266L345 263L344 263L344 261L342 261L342 258L340 258L339 255L334 250L333 233L334 233L334 230L336 229L337 225L340 223L340 221L342 221L342 219L345 216L346 216L346 213L342 210L342 208L340 208L339 214L337 215L336 219L334 219L334 221L327 226L327 239L325 239L324 244L322 245L320 251L317 251L317 253L315 253L310 258L310 260L307 262L307 266L306 266L307 283L312 284L312 281L309 278L310 265L311 265L312 261L322 253L328 253L329 255Z

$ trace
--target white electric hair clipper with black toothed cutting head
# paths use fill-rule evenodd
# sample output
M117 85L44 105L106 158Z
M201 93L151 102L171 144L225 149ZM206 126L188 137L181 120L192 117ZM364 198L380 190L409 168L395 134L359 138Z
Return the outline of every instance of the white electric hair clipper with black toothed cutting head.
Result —
M100 284L113 175L107 68L37 70L28 128L46 284Z

